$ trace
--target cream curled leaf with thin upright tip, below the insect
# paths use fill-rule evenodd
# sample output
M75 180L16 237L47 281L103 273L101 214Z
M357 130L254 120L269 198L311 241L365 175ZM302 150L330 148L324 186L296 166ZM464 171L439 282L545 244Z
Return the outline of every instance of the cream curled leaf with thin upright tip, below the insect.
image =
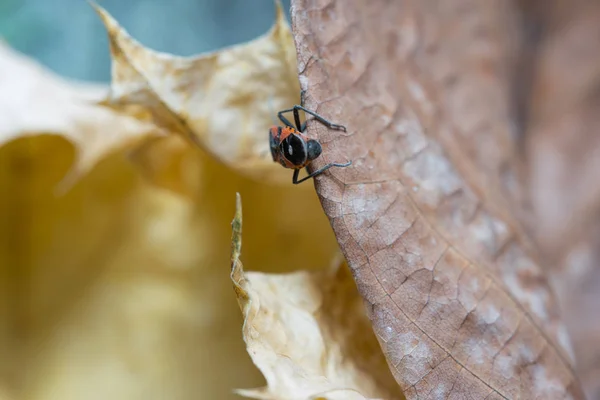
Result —
M345 264L290 274L244 272L242 205L232 223L231 280L248 353L267 380L255 399L402 399ZM307 260L308 261L308 260Z

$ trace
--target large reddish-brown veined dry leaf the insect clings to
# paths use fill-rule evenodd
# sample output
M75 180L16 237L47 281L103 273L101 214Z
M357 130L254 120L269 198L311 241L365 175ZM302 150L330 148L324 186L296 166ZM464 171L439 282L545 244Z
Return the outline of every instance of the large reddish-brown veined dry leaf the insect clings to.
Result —
M309 123L353 160L317 191L409 399L581 399L569 337L522 221L507 2L292 8Z

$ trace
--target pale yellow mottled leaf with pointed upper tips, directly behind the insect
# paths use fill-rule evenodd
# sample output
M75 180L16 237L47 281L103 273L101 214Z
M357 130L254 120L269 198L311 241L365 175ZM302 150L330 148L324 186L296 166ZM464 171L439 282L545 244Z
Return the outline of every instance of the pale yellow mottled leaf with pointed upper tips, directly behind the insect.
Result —
M296 56L279 2L264 36L194 57L143 47L101 7L111 44L112 85L104 102L133 115L149 110L155 123L196 143L238 173L283 183L291 178L273 163L268 129L276 112L299 101Z

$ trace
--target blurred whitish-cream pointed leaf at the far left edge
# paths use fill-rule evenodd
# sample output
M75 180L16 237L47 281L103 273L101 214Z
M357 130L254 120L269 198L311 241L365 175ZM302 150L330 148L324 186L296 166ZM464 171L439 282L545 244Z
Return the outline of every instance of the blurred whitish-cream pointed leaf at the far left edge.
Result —
M62 182L68 189L99 160L132 148L156 126L99 107L100 85L71 82L27 59L0 41L0 144L39 132L57 133L76 146L77 162Z

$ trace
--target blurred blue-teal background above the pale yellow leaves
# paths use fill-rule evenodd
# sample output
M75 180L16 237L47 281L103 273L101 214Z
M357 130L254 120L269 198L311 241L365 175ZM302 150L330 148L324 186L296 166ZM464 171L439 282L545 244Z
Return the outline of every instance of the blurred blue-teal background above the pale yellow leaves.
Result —
M181 56L267 32L273 0L99 0L142 44ZM290 0L282 0L289 15ZM0 0L0 36L66 77L108 82L106 30L85 0Z

